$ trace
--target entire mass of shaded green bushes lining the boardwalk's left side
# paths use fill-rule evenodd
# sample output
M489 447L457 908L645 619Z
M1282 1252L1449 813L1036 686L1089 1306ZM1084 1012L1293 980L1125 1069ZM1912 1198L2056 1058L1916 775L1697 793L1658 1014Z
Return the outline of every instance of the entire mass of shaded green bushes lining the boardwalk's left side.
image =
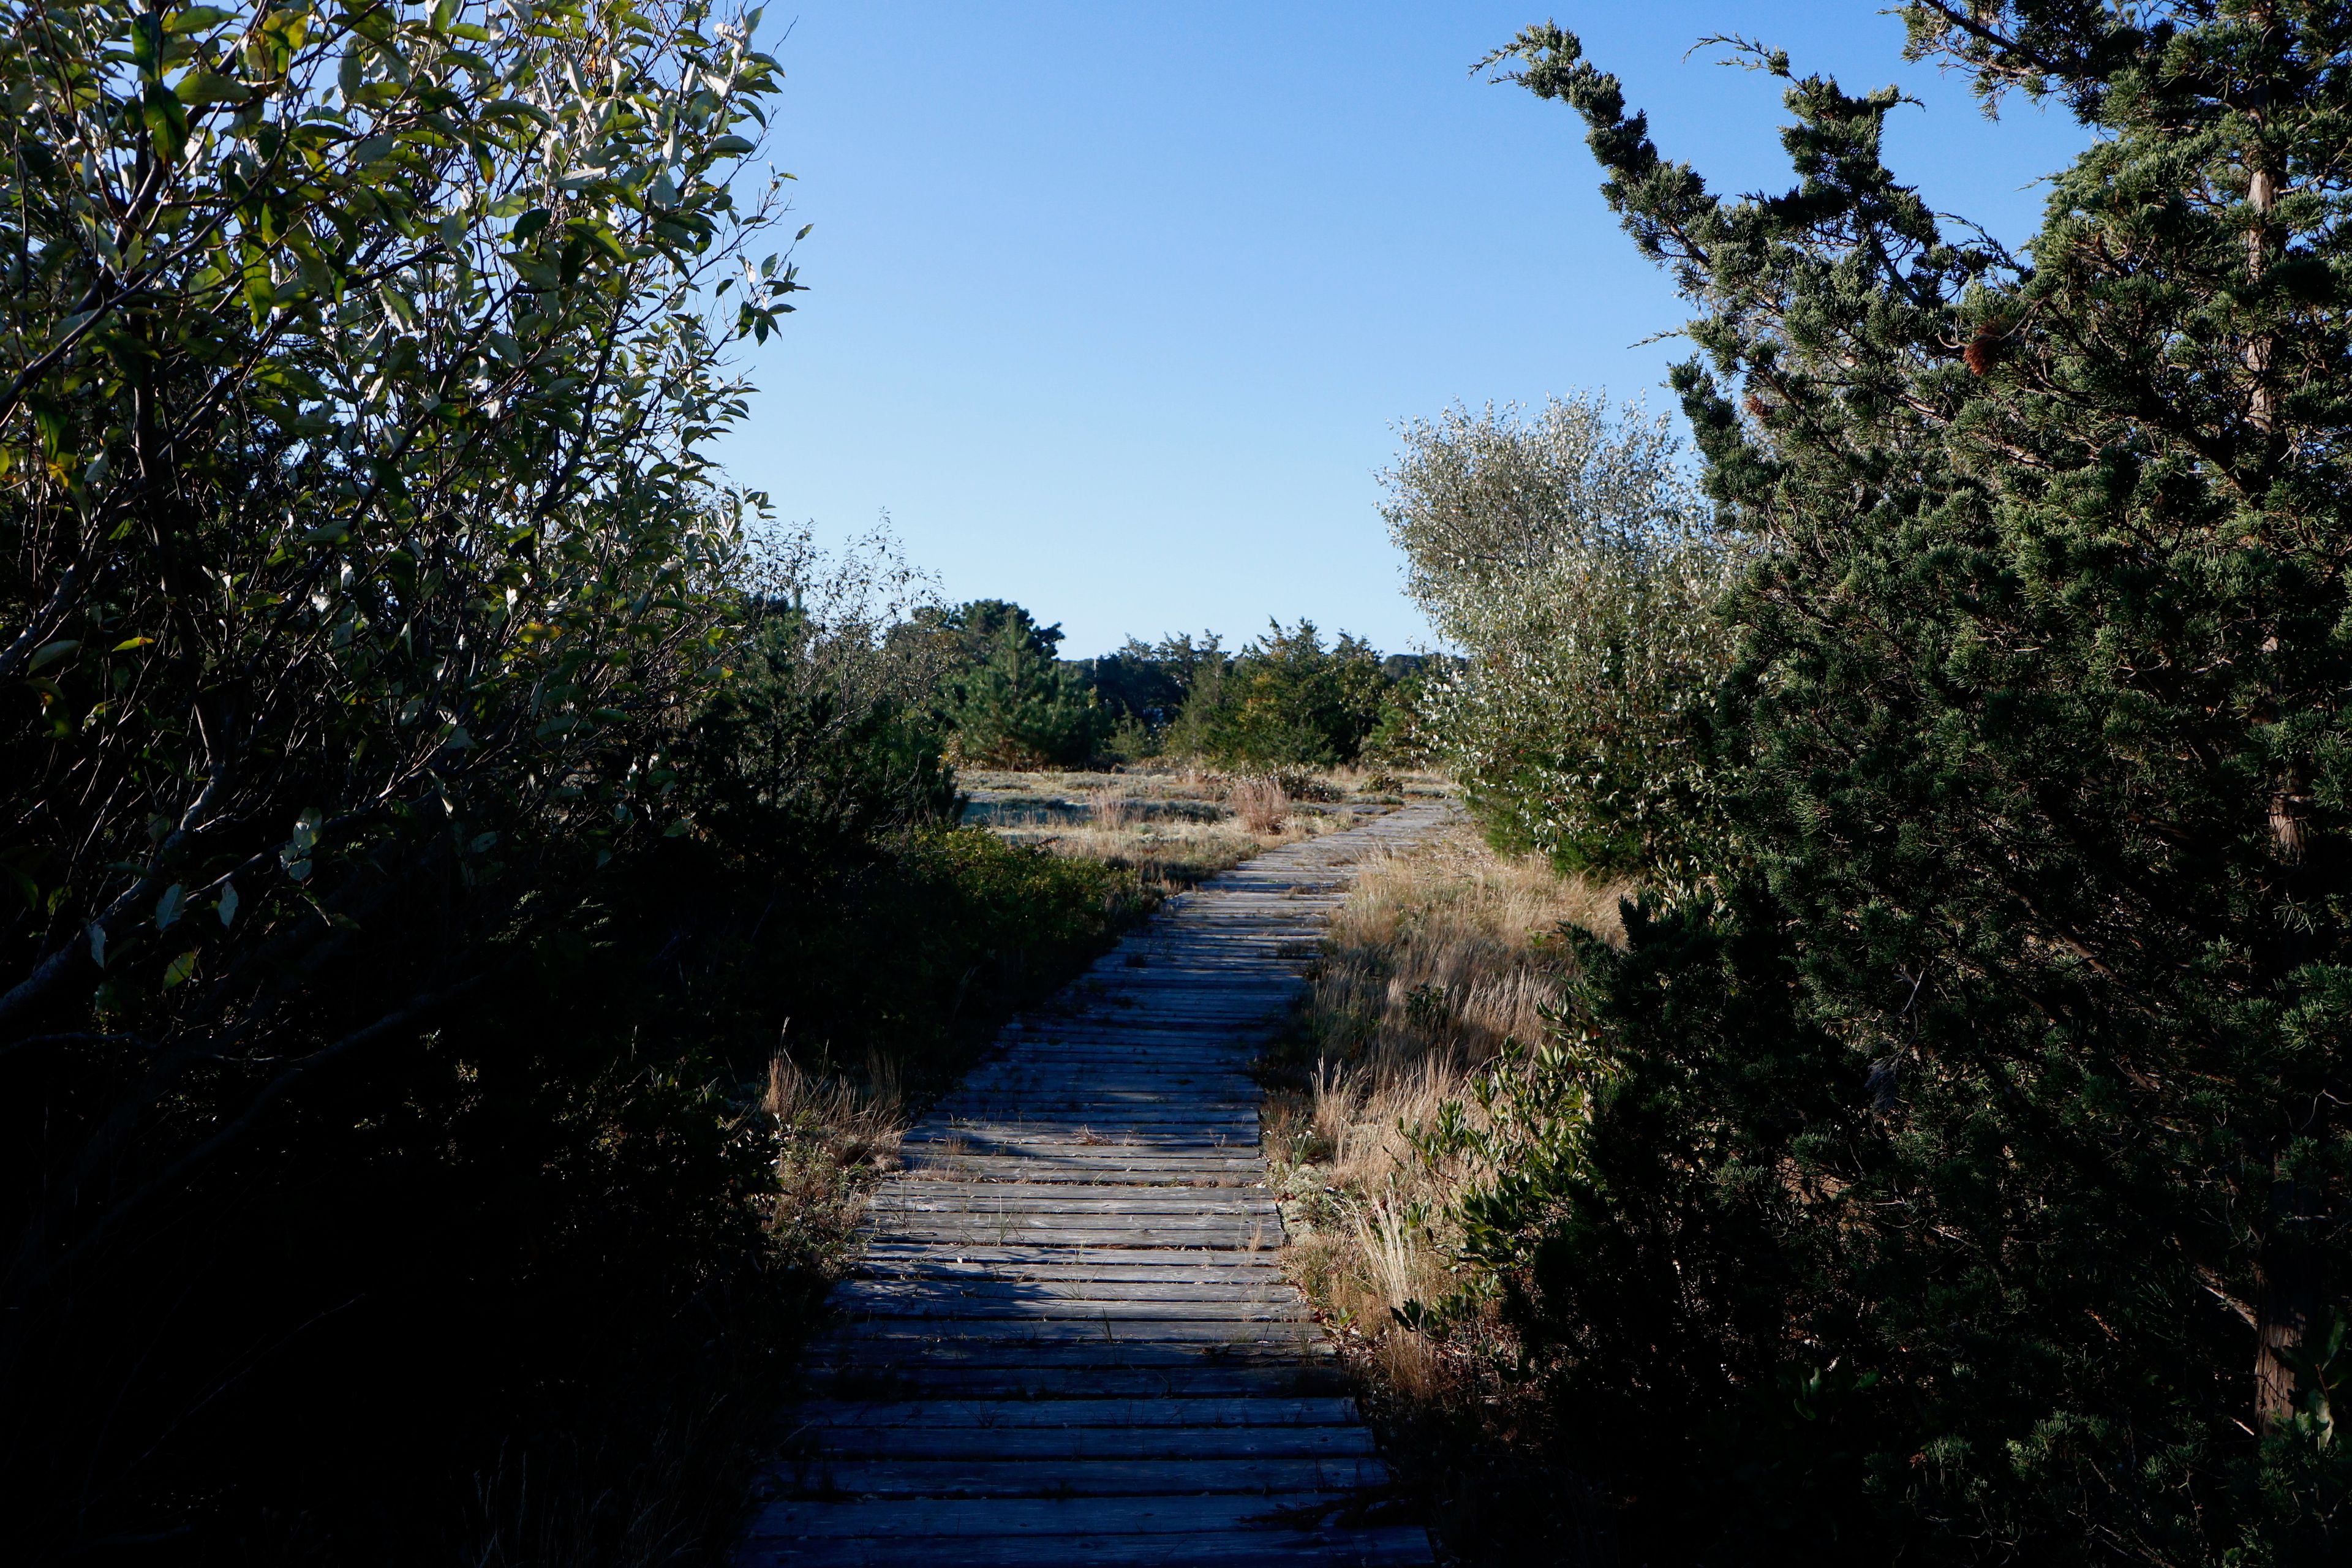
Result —
M720 1549L823 1262L769 1053L946 1063L1129 907L941 827L927 672L710 461L797 287L774 61L703 5L9 16L12 1561Z

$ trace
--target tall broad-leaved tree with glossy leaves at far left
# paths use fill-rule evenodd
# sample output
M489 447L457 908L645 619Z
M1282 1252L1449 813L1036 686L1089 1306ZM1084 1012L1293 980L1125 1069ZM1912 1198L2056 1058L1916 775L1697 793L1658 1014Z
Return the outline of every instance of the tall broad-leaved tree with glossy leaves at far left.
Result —
M720 348L797 284L734 195L755 14L0 16L0 1408L49 1549L325 1309L207 1316L207 1237L426 1117L435 1032L687 830L760 508Z

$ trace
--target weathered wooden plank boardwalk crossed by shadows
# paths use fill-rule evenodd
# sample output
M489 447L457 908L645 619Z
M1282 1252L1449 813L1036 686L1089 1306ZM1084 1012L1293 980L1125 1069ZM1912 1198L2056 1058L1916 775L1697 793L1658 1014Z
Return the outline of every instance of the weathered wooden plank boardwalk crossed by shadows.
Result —
M1428 1563L1275 1260L1256 1041L1411 804L1171 900L1016 1020L875 1197L743 1568Z

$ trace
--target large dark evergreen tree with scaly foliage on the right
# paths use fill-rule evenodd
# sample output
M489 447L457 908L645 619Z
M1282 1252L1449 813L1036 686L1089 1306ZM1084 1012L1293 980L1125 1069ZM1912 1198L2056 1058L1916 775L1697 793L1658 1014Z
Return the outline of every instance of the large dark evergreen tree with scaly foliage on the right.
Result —
M1719 896L1588 952L1576 1154L1479 1248L1656 1559L2333 1561L2352 19L1905 14L2100 132L2030 263L1882 165L1893 89L1745 47L1797 186L1726 200L1508 52L1696 306L1757 550Z

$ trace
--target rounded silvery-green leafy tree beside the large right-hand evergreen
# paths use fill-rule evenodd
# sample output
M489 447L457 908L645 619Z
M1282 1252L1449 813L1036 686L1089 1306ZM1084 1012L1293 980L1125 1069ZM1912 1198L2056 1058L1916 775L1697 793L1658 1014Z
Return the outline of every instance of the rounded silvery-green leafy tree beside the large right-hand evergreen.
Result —
M1421 729L1489 835L1569 870L1705 877L1736 543L1665 421L1597 397L1446 409L1383 477L1409 588L1470 656L1421 691Z

